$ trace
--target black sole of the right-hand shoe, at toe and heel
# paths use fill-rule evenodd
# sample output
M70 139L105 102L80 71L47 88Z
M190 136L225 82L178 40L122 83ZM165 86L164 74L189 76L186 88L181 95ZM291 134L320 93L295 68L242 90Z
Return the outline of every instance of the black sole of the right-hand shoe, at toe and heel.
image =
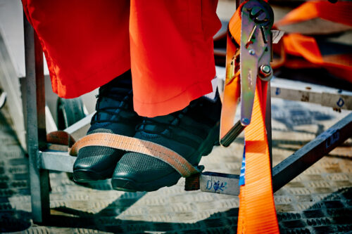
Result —
M191 159L193 157L196 157L196 155L199 155L196 158L196 164L194 166L198 165L199 162L201 161L201 157L207 156L210 154L210 152L213 150L214 145L220 145L219 144L219 130L220 130L220 123L218 122L215 124L213 129L210 130L208 137L206 138L203 143L201 143L201 146L199 149L194 152L193 155L191 155ZM143 192L151 192L151 191L156 191L159 188L163 187L170 187L174 186L181 178L181 175L177 171L172 171L172 173L168 174L167 176L164 176L163 178L158 178L155 181L149 181L146 183L137 183L136 181L133 181L128 178L112 178L111 180L111 185L114 190L120 190L120 191L125 191L125 192L137 192L137 191L143 191Z

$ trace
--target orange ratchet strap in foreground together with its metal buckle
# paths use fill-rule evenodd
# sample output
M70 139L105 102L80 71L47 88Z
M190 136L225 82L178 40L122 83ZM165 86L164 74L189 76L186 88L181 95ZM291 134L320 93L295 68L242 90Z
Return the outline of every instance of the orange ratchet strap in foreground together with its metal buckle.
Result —
M254 7L252 7L252 5L247 6L247 3L254 4ZM262 28L263 26L260 26L260 23L258 23L258 25L253 27L253 30L252 28L249 29L250 34L248 42L246 44L243 42L244 35L246 35L244 33L246 26L244 26L244 24L247 24L247 22L242 22L241 18L241 15L245 14L244 11L249 11L250 17L257 17L256 20L254 20L255 22L260 20L262 20L261 22L265 22L266 20L262 17L263 15L260 16L260 11L256 3L264 8L268 6L268 4L261 0L247 1L237 8L237 11L229 22L229 33L227 34L227 74L224 97L222 98L220 143L229 145L230 141L233 141L234 138L230 138L229 141L224 141L224 138L229 138L228 136L231 131L236 132L233 131L234 129L237 129L236 134L239 134L241 129L245 127L245 183L241 186L239 194L240 203L237 233L279 233L274 197L272 194L270 155L265 129L265 107L268 82L265 81L265 77L260 77L260 72L258 74L260 79L253 79L253 77L251 77L253 74L257 75L256 71L259 69L258 66L263 66L263 64L260 63L265 62L265 60L270 61L268 57L264 60L262 60L262 58L263 56L268 56L265 54L265 51L268 52L268 49L271 49L270 28L268 29L268 27L271 26L265 26L265 28L269 30L269 35L265 35L265 28ZM268 11L272 12L271 8ZM270 17L272 17L272 15L270 15ZM261 25L265 25L265 23ZM246 30L248 31L248 29ZM256 34L256 36L253 37L253 34ZM267 36L268 38L266 38ZM245 38L245 40L247 39ZM262 48L260 48L260 46L256 47L255 44L259 44ZM261 50L264 50L264 52L262 52L263 56L258 55L257 67L251 67L250 72L243 71L243 69L249 69L246 67L246 63L251 62L246 60L246 58L250 57L245 57L246 53L242 52L243 50L241 50L240 46L245 46L249 54L253 56L256 55L256 53L260 53ZM251 51L252 48L253 51ZM239 53L239 51L241 51L241 53ZM241 59L244 60L242 61ZM239 74L241 74L241 76L245 74L256 82L256 84L254 84L254 86L256 85L254 93L247 92L246 89L243 89L244 86L246 87L246 85L248 85L243 84L246 82L247 77L240 77ZM253 86L253 84L249 84L249 87L251 87L250 85ZM239 98L241 92L244 98L242 96ZM241 105L246 105L243 102L246 101L245 98L247 96L253 98L253 108L249 119L250 123L246 122L246 119L244 120L241 117L241 121L237 122L237 124L233 124L234 113L239 104L239 99L241 99ZM241 108L241 112L243 110L244 108ZM243 113L241 113L241 115L242 114Z

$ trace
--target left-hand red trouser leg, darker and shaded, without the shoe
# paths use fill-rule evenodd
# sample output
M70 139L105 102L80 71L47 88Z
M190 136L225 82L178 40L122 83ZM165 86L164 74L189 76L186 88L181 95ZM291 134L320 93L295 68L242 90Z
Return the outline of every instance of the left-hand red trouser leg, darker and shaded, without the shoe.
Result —
M130 70L130 1L23 0L54 92L75 98Z

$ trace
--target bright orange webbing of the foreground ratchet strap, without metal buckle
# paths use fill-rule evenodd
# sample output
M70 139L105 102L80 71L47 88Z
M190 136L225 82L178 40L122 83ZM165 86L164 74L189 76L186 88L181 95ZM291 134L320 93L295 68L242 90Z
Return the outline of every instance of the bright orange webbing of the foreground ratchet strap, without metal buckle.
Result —
M237 8L229 22L229 31L237 44L240 44L241 40L242 6L243 4ZM227 40L227 48L237 49L230 40ZM229 50L227 50L227 53L229 53ZM230 53L234 54L235 51L230 51ZM227 65L229 64L227 63ZM239 85L239 82L232 82L227 87L227 90L230 88L232 92L227 91L224 100L234 96L234 93L238 92ZM244 129L246 169L245 183L241 186L239 194L237 233L279 233L272 194L268 138L265 129L266 93L267 82L257 79L251 124ZM235 103L232 100L232 105ZM233 106L233 108L236 108L236 106Z

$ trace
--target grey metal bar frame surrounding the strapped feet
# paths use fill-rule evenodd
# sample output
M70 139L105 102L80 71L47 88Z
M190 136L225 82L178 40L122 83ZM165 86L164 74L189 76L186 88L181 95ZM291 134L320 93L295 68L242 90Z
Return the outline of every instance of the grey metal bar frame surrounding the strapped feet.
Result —
M43 223L49 218L49 170L73 172L73 163L76 157L68 155L68 152L58 152L46 148L46 126L45 126L45 93L42 48L34 34L27 18L24 18L25 25L25 91L23 96L26 100L26 122L27 122L27 151L30 157L30 191L32 199L32 219L35 223ZM275 82L272 82L275 83ZM270 84L269 84L270 87ZM272 86L268 90L267 119L266 126L271 155L271 92L277 91L278 87ZM291 89L283 89L285 93ZM305 89L309 92L312 89ZM300 90L296 90L300 93ZM274 96L273 93L272 96ZM306 93L307 94L307 93ZM328 93L329 94L329 93ZM341 98L341 92L330 93L335 98ZM329 94L329 95L330 95ZM351 94L347 93L344 100L347 109L351 108ZM291 94L290 94L291 95ZM325 96L325 93L315 92L314 95ZM343 93L345 95L345 93ZM291 97L287 95L288 97ZM286 96L286 97L287 97ZM282 96L280 96L282 97ZM296 97L296 96L293 96ZM347 99L346 99L347 98ZM296 100L296 99L294 99ZM308 98L308 100L310 100ZM318 102L318 101L317 101ZM318 102L326 104L325 102ZM332 105L332 104L331 104ZM331 106L330 105L330 106ZM84 136L89 126L92 115L81 119L66 131L74 138ZM313 141L297 150L293 155L279 163L272 169L273 190L282 188L286 183L301 174L305 169L320 160L327 152L336 148L337 145L346 141L352 136L352 113L346 116L334 126ZM239 195L239 176L230 174L219 174L203 172L200 175L200 189L210 193L224 193Z

